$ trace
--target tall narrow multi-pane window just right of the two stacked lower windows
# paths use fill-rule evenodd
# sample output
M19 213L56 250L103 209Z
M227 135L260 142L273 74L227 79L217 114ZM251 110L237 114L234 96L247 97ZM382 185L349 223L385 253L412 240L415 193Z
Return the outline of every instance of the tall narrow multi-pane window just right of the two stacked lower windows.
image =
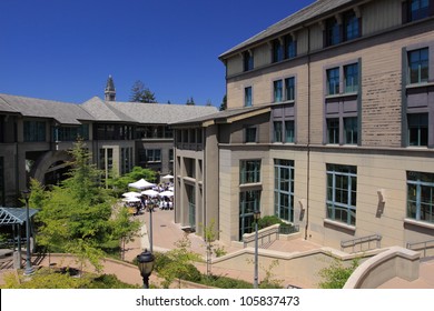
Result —
M294 222L294 161L274 160L274 209L276 217Z

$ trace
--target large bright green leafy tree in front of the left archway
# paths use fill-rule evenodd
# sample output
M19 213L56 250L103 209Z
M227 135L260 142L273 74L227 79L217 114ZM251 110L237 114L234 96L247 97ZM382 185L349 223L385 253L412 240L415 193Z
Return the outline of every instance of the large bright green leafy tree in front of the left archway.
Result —
M100 171L89 163L86 144L75 143L71 154L69 178L47 192L37 214L38 241L51 251L73 253L81 264L89 261L98 270L106 252L119 248L125 233L117 233L120 221L112 213L115 200L99 187ZM30 200L37 201L37 193Z

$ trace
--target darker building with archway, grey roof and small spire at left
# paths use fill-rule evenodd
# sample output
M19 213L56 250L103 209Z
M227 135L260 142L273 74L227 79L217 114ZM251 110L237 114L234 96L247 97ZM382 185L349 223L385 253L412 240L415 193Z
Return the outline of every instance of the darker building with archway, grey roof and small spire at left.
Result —
M68 150L78 137L106 177L127 173L134 165L160 174L172 172L169 123L217 111L215 107L118 102L111 77L105 94L106 100L96 97L82 104L0 94L0 205L14 205L29 178L57 183L68 170Z

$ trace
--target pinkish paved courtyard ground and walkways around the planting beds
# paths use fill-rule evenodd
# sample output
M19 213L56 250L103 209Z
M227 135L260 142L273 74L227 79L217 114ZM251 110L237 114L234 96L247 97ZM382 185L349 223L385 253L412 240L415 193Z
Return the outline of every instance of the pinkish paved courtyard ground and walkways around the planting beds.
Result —
M154 237L154 252L166 252L176 248L176 243L180 241L186 234L190 241L190 251L198 253L204 257L203 263L197 263L196 267L200 272L206 273L207 267L205 263L206 259L206 244L203 238L195 233L187 233L183 230L179 223L174 221L174 210L160 210L156 209L152 212L152 237ZM125 261L118 260L105 260L103 261L103 273L116 274L117 278L126 283L141 284L142 280L136 265L130 264L132 260L142 252L145 249L149 249L149 212L141 212L135 215L142 223L137 237L134 241L127 243L125 249ZM238 245L226 245L220 243L227 254L239 251L241 247ZM303 238L298 238L292 241L276 240L267 244L267 250L275 252L304 252L322 248L319 244L306 241ZM259 249L260 252L260 249ZM260 262L259 262L260 263ZM33 257L33 264L39 267L78 267L73 259L65 258L61 255L46 255L37 259ZM3 283L3 274L10 272L9 269L0 270L0 284ZM272 271L273 272L273 271ZM231 269L221 269L211 267L211 273L215 275L224 275L234 279L245 280L253 282L254 279L254 265L251 264L251 272L238 270L237 267ZM305 289L315 289L315 283L300 283L297 280L282 279L277 275L276 279L282 281L282 285L287 287L288 284L296 285ZM150 275L151 284L159 284L160 280L156 273ZM394 278L379 288L382 289L434 289L434 260L422 260L420 269L420 278L415 281L408 282L400 278Z

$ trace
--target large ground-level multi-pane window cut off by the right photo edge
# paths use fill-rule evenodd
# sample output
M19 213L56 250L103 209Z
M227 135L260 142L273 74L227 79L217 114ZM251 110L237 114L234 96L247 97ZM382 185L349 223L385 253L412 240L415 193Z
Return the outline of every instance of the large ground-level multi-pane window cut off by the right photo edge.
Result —
M407 172L407 218L434 223L434 173Z

